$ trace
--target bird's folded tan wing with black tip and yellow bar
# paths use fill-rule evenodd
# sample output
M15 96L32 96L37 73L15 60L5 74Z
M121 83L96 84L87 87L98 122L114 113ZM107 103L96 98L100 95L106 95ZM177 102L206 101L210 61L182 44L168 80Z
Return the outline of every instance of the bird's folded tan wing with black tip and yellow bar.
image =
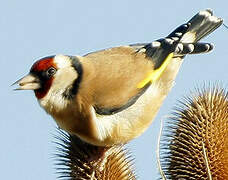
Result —
M172 37L149 44L116 47L84 56L97 69L95 83L90 83L96 112L115 114L134 104L159 79L188 27L184 24Z

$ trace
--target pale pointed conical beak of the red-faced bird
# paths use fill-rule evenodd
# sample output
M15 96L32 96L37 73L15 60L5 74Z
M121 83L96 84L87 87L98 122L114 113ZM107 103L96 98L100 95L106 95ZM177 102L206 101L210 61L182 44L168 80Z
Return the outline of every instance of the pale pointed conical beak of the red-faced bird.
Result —
M27 76L19 79L12 85L15 84L18 84L19 87L14 90L36 90L41 87L40 80L32 74L28 74Z

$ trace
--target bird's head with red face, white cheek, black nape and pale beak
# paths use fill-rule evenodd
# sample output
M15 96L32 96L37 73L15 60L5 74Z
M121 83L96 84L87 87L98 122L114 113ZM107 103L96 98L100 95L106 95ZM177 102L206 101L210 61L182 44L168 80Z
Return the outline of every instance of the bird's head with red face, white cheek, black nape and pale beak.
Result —
M16 90L34 90L37 99L47 94L73 97L79 88L82 66L75 56L56 55L36 61L28 75L14 84Z

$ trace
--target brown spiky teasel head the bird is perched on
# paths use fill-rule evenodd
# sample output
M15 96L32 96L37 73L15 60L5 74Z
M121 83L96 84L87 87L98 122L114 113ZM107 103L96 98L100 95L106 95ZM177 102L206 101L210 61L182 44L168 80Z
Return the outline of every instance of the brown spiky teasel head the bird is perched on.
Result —
M57 141L59 179L135 180L133 159L123 146L98 147L61 130Z

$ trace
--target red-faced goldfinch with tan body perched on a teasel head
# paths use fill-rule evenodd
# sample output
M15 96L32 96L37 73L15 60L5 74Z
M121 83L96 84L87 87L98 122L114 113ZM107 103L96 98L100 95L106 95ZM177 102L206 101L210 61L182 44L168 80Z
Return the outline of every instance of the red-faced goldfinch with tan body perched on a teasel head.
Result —
M211 9L198 12L151 43L37 60L16 90L34 90L59 128L96 146L125 144L152 123L188 54L207 53L199 42L223 23Z

